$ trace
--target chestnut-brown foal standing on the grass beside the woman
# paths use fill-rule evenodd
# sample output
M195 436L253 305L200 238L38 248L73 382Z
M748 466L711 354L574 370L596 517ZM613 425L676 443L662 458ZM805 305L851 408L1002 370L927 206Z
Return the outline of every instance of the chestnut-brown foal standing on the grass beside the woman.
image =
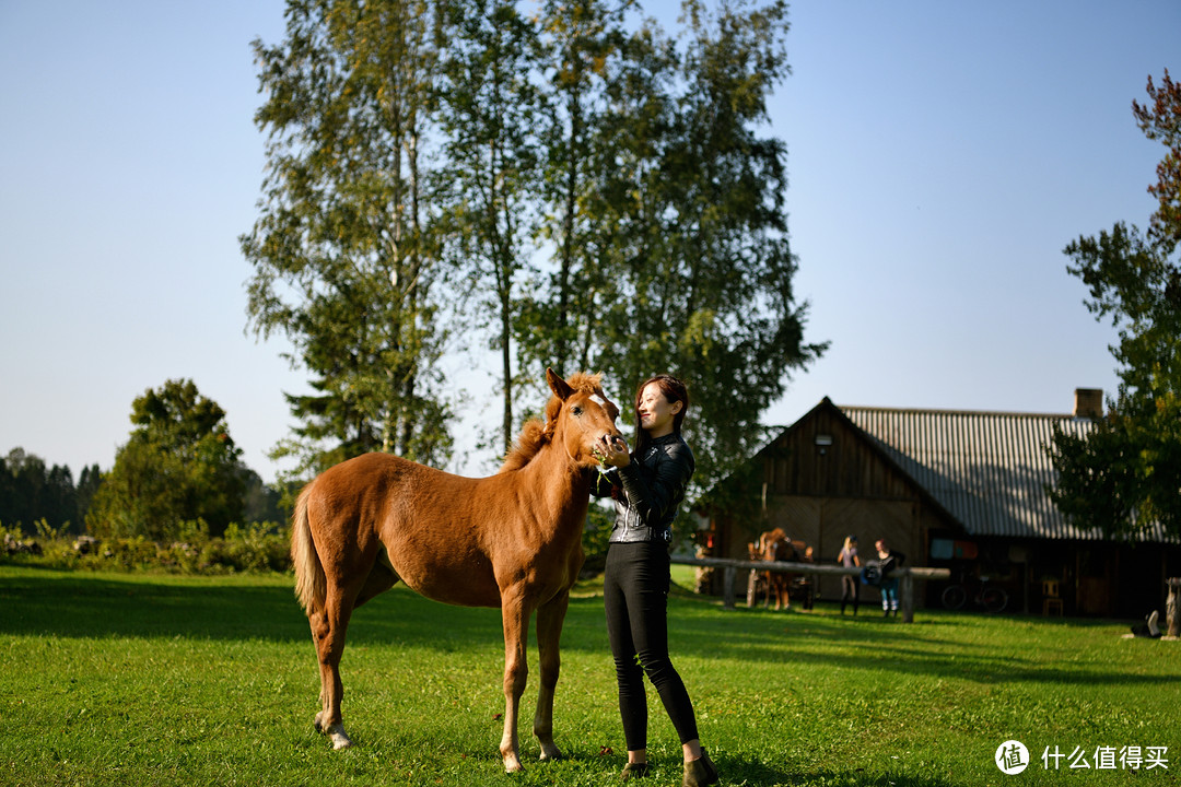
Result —
M620 437L619 408L599 376L569 382L546 370L546 421L526 425L504 465L462 478L390 454L344 461L308 484L295 504L295 592L320 662L315 727L333 748L351 746L340 716L340 656L352 611L399 579L428 598L498 606L504 628L507 770L520 770L517 710L528 673L529 619L537 612L541 689L533 732L541 759L554 745L559 638L582 566L582 525L595 450Z

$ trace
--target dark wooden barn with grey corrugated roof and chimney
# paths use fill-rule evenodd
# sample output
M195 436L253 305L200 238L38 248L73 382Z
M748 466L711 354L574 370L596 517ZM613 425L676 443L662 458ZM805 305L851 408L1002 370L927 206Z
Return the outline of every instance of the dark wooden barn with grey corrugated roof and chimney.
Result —
M1009 611L1163 615L1181 545L1159 533L1115 543L1079 531L1046 493L1053 429L1085 435L1102 413L1101 391L1082 388L1075 399L1074 413L1048 415L846 407L826 398L703 497L698 553L745 559L759 532L783 527L820 562L835 562L844 537L856 536L864 560L882 538L909 565L951 569L970 606L987 578L1007 591ZM947 584L928 583L920 603L940 605ZM840 595L839 578L820 577L821 599ZM862 589L863 603L876 599Z

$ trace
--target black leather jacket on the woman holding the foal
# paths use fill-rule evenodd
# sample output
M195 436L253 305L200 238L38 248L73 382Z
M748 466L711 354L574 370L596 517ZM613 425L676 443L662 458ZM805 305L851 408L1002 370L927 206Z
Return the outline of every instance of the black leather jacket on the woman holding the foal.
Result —
M657 438L642 457L632 457L626 467L614 467L592 486L595 497L618 488L615 525L611 542L672 542L672 522L697 466L689 444L677 433Z

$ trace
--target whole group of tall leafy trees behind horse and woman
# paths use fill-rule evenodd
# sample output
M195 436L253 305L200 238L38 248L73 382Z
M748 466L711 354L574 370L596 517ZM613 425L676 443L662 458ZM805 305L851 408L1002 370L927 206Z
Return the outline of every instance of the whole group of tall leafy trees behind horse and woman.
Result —
M763 132L787 4L689 0L674 38L638 8L289 0L285 40L255 42L268 163L241 242L250 326L311 376L276 447L295 476L445 460L452 334L500 350L496 453L546 367L606 372L625 400L689 380L702 487L757 447L826 348L803 341L787 147Z

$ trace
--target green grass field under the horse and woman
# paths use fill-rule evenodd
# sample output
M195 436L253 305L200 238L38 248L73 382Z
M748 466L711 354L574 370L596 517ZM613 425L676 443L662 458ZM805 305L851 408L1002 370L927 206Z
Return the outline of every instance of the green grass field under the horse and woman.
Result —
M496 752L496 610L400 588L358 610L342 664L357 746L333 752L312 729L319 682L291 584L0 566L0 785L619 783L593 584L562 640L555 732L567 759L536 762L526 721L527 772L514 776ZM727 612L674 591L673 660L724 785L1181 783L1181 643L1124 640L1111 622L919 610L905 625L874 611ZM680 747L654 693L650 704L658 767L641 785L679 785ZM993 763L1010 739L1032 760L1012 776ZM1161 746L1167 769L1094 767L1104 747ZM1048 769L1046 747L1085 750L1092 767L1065 756Z

